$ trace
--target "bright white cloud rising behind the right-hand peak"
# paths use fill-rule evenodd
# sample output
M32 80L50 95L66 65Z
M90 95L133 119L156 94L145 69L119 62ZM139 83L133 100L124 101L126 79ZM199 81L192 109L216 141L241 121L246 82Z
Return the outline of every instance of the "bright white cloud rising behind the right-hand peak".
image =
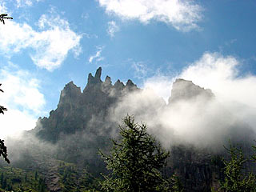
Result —
M183 70L179 77L213 90L218 100L225 103L230 111L235 111L238 118L254 126L256 121L251 111L256 110L256 76L241 76L238 70L241 65L242 62L232 56L206 53Z

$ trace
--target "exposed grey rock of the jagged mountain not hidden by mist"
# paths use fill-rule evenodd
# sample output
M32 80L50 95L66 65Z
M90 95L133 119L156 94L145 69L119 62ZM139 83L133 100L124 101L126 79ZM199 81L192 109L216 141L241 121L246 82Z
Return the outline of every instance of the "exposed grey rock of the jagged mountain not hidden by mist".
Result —
M49 118L38 118L37 126L29 132L39 141L50 143L49 148L43 147L44 151L52 150L48 159L54 165L54 169L47 166L47 171L50 174L54 173L54 180L46 180L49 187L54 183L54 187L61 191L61 185L57 183L60 176L56 172L56 161L74 163L94 177L106 173L106 165L99 157L98 149L108 153L111 147L110 138L118 135L117 123L110 121L109 118L110 109L128 94L142 90L131 80L126 84L120 80L112 84L109 76L102 81L101 75L101 67L94 76L89 74L86 87L82 91L74 82L67 83L61 91L57 109L50 111ZM172 107L182 101L196 102L198 99L200 105L205 106L207 102L214 100L214 94L211 90L196 86L191 81L177 79L173 84L169 103L163 107ZM202 107L202 113L203 110ZM252 135L250 129L247 130L246 134L242 132L238 135ZM186 191L210 191L212 186L218 186L218 179L221 178L221 164L213 164L213 157L212 151L207 149L180 144L171 146L170 158L163 172L166 177L177 173ZM35 162L40 162L41 166L38 167L41 169L42 161ZM47 171L44 170L42 173L48 175ZM54 188L51 191L54 191Z

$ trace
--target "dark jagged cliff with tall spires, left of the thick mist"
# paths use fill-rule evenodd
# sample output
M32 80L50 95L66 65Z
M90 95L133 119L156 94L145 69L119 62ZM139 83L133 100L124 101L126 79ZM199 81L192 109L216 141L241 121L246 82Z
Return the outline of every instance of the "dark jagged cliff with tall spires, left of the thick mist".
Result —
M112 85L110 77L101 80L102 68L99 67L95 75L88 75L85 89L66 84L61 91L58 107L50 111L49 118L39 118L34 132L38 138L50 142L57 142L61 134L74 134L80 130L90 130L90 120L101 115L102 121L107 109L127 93L139 90L133 82L128 80L124 85L119 80ZM97 129L95 129L96 131Z

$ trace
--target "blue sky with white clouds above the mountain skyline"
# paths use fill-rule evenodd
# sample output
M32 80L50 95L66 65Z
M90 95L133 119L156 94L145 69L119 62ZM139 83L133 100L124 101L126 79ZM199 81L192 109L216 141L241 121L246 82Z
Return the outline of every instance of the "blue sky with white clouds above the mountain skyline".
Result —
M255 1L0 0L0 13L14 18L0 25L3 136L33 128L99 66L102 80L130 78L166 101L186 78L256 107Z

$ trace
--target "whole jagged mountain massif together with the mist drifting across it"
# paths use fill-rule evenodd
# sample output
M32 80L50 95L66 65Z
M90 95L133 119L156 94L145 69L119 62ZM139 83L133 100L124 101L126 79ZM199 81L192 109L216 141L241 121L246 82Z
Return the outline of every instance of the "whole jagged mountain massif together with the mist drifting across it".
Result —
M171 150L166 174L177 172L187 190L217 185L211 157L223 153L229 138L245 148L255 138L254 129L218 102L211 90L191 81L176 79L166 103L154 90L139 89L131 80L113 85L109 76L102 81L101 74L101 67L94 76L89 74L82 91L74 82L67 83L48 118L38 118L34 130L22 138L6 141L14 166L41 170L44 177L54 170L54 178L46 180L52 191L61 189L56 161L74 163L96 177L106 172L98 149L108 153L110 138L118 138L118 124L126 114L146 122L149 133ZM44 164L48 168L42 168Z

